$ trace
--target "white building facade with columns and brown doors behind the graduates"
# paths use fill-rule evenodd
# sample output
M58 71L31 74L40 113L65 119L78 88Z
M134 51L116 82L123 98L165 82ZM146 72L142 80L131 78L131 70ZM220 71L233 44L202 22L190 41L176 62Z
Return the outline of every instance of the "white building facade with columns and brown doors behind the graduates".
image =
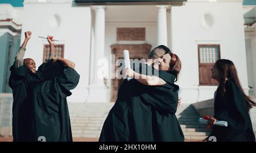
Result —
M142 59L158 45L168 46L181 59L177 84L184 103L213 98L217 84L210 78L210 69L219 58L234 62L244 90L255 95L255 28L248 25L247 32L244 25L244 15L252 8L243 6L241 0L24 0L23 7L1 4L0 92L10 92L8 69L24 40L23 33L32 31L25 57L35 59L37 67L48 53L47 40L39 36L47 35L59 40L55 44L60 56L76 63L81 78L69 102L115 101L122 80L111 77L118 69L112 63L123 58L124 49L131 58ZM98 78L102 69L108 73Z

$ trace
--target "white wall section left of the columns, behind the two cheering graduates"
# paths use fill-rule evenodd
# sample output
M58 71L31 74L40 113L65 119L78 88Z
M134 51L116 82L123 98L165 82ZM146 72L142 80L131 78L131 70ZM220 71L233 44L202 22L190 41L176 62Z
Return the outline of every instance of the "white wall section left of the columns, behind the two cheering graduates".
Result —
M58 1L59 2L59 1ZM38 67L43 62L43 45L47 40L38 36L52 35L64 44L64 58L76 63L76 71L80 74L79 85L72 91L69 101L84 102L88 96L89 84L89 52L90 52L90 7L76 7L72 1L63 3L24 2L24 18L22 33L32 31L32 38L27 45L25 56L35 59ZM60 24L55 19L59 16ZM24 40L22 35L21 41Z

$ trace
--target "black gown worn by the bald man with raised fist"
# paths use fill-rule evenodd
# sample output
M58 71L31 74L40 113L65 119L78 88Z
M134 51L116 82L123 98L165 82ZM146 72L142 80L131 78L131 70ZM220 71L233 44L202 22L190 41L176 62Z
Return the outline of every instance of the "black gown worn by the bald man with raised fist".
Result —
M13 90L13 141L32 141L32 92L42 82L40 73L28 74L26 66L10 67Z

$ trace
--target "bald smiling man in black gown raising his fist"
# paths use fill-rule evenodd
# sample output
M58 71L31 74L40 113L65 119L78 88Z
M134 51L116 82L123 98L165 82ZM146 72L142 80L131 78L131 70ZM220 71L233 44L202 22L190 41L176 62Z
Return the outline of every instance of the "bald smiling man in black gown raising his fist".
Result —
M13 141L32 141L32 92L42 82L35 61L23 59L32 32L25 32L25 40L10 67L9 86L13 90Z

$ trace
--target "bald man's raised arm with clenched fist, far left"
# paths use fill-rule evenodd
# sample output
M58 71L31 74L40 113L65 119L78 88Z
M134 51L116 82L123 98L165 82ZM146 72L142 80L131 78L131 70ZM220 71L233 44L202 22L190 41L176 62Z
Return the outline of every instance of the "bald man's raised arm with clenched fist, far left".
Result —
M28 42L28 40L30 40L32 32L27 31L24 34L25 34L25 39L24 39L22 45L20 46L18 52L15 55L14 66L16 68L20 67L20 66L23 66L23 57L24 57L24 54L25 54L25 51L26 51L27 42Z

